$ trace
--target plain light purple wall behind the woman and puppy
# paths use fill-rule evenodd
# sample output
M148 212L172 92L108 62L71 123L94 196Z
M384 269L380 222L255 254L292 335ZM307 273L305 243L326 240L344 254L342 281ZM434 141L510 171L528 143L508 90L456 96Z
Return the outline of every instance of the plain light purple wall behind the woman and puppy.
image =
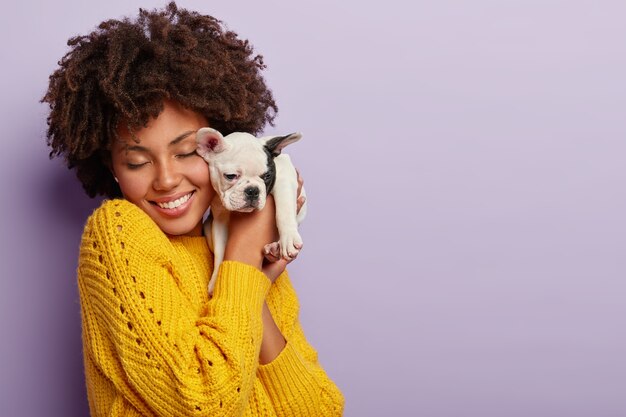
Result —
M49 161L66 40L164 2L0 16L0 415L85 416L75 284L98 203ZM626 4L180 1L265 56L300 130L302 321L346 416L626 416Z

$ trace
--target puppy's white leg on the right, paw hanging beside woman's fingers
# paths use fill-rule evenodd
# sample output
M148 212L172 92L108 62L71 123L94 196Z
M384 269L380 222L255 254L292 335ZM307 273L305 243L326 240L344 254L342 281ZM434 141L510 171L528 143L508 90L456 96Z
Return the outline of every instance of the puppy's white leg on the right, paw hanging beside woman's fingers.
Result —
M276 182L272 195L276 204L276 226L278 227L280 256L295 258L302 249L302 238L296 220L298 175L287 154L280 154L276 163ZM270 244L271 245L271 244Z

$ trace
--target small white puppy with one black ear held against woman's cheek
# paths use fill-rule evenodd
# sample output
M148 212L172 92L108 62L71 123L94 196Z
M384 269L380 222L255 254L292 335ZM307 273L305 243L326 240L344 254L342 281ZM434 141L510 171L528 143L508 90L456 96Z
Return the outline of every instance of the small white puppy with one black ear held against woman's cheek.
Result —
M211 128L196 133L197 152L209 164L211 183L217 192L204 234L215 257L209 294L213 293L217 270L224 260L230 211L251 212L265 207L268 193L274 196L279 240L265 246L265 253L287 260L302 249L298 224L306 215L306 201L297 212L298 179L289 155L282 149L302 135L256 138L236 132L223 137ZM300 196L306 196L302 188Z

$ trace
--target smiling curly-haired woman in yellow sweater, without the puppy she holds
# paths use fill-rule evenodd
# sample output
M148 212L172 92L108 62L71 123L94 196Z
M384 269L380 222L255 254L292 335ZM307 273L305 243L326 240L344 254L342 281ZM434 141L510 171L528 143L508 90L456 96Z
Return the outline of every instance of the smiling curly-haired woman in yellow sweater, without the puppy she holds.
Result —
M272 122L262 58L174 3L68 44L43 98L51 155L90 196L112 198L88 219L78 266L91 414L341 415L286 262L263 259L276 238L271 199L233 215L212 298L206 290L202 216L214 190L195 131Z

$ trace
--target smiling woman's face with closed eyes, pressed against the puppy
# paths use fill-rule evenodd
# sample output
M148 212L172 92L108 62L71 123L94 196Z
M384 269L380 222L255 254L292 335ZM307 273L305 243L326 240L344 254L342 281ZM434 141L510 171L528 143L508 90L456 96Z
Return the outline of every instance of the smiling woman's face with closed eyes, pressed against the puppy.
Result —
M166 101L163 112L135 132L136 139L120 127L111 149L111 169L124 198L167 234L202 234L202 216L215 194L208 165L196 153L196 131L206 126L201 115Z

